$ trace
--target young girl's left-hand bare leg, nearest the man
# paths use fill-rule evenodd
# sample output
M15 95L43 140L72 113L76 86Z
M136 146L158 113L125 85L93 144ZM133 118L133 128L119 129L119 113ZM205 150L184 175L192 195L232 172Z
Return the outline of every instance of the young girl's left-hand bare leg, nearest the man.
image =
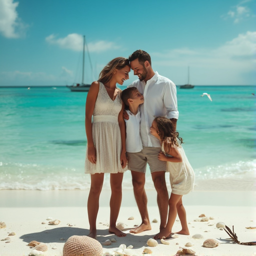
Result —
M181 199L182 195L179 194L170 194L169 198L169 213L168 220L165 228L161 229L158 234L154 236L154 239L161 239L163 236L168 237L171 233L172 226L177 216L177 203Z

